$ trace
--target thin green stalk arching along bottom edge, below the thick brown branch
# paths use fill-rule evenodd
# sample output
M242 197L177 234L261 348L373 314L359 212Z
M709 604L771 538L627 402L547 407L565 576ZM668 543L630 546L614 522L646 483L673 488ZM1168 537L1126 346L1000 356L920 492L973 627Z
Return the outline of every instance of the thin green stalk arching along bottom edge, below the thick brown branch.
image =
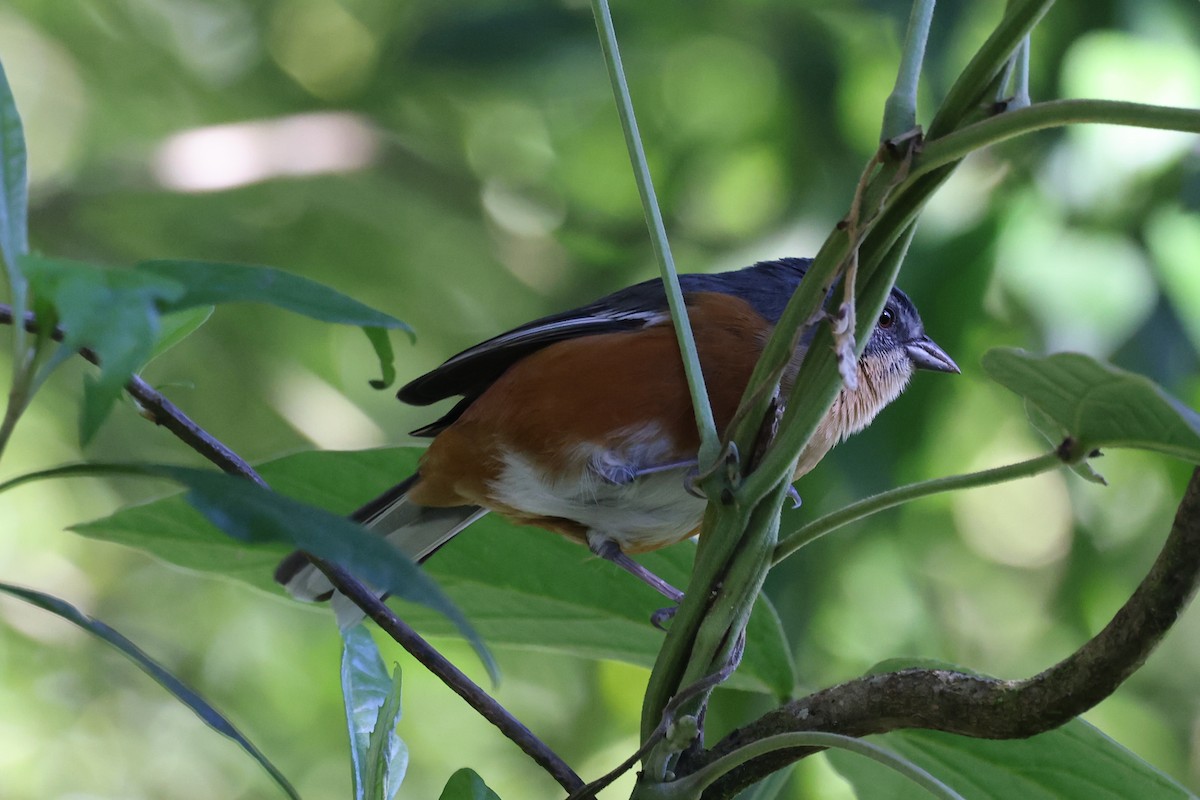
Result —
M816 730L803 730L793 733L780 733L773 736L758 739L743 747L738 747L731 753L718 758L703 769L671 783L660 783L653 787L643 796L652 800L698 800L704 789L715 783L721 776L733 769L742 766L746 762L767 756L780 750L794 747L828 747L846 750L859 756L865 756L871 760L895 770L917 786L929 792L941 800L962 800L962 795L946 786L936 777L920 769L912 762L892 753L878 745L872 745L862 739L844 736L836 733L821 733Z

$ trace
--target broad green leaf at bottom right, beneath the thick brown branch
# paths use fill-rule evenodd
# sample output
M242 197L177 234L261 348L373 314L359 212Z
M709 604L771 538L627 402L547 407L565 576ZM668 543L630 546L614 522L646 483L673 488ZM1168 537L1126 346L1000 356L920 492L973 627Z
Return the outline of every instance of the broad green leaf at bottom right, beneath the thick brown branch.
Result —
M971 800L1182 800L1182 786L1084 722L1015 740L934 730L872 738ZM829 763L860 798L925 800L906 778L865 759L830 751Z

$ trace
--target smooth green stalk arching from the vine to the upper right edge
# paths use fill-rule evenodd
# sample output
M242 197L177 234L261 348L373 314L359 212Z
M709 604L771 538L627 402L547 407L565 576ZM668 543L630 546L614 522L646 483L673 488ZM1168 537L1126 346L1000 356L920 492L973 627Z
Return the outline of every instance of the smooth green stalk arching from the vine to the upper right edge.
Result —
M1022 133L1085 122L1200 133L1200 109L1116 100L1054 100L1034 103L926 142L913 164L912 178L925 175L980 148Z

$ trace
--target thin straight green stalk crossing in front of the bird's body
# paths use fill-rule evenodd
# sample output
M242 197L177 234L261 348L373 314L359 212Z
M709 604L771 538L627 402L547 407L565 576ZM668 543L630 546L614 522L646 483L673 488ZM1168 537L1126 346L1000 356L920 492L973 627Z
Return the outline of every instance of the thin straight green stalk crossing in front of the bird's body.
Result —
M688 308L684 305L683 290L679 288L679 276L671 255L671 245L667 242L666 227L662 224L662 212L659 210L659 201L654 194L654 182L650 180L650 168L646 162L642 137L637 131L634 102L629 96L629 84L625 82L625 70L617 48L617 32L612 26L608 0L592 0L592 11L600 32L600 49L604 53L605 65L608 67L608 80L612 83L613 97L617 100L620 126L625 132L625 146L629 149L629 158L634 164L634 179L637 181L637 192L642 197L646 224L650 229L650 243L662 273L662 285L666 288L671 319L674 323L676 337L679 339L679 351L683 354L684 373L688 375L688 389L691 391L696 427L700 431L700 468L703 471L716 461L720 434L713 419L712 404L708 402L700 355L696 353L696 339L692 336L691 323L688 320Z

